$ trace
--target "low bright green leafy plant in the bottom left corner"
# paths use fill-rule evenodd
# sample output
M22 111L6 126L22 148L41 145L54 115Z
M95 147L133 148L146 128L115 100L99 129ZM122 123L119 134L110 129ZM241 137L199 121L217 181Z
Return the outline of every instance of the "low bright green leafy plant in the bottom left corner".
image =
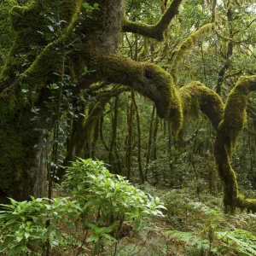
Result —
M81 211L76 201L68 198L46 198L18 202L10 199L10 205L1 205L0 237L3 243L0 253L9 255L40 255L46 243L56 247L68 243L58 224L71 226L71 220ZM50 220L50 224L45 225Z

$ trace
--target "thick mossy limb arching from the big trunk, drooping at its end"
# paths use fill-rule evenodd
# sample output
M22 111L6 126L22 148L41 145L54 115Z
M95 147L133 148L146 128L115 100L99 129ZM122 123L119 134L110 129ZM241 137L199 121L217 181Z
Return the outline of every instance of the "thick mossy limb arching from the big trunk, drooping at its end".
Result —
M94 61L91 69L96 69L100 78L131 86L155 103L160 118L171 119L174 133L181 128L181 100L172 77L165 70L148 62L142 65L122 55L94 55Z

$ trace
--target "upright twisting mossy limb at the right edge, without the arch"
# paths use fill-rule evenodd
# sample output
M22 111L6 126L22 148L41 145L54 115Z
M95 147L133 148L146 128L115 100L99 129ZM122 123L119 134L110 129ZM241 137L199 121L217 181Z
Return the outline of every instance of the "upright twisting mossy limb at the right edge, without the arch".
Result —
M218 173L224 182L224 207L226 212L234 212L236 207L247 208L255 212L256 201L244 200L238 193L236 172L230 165L236 139L247 120L247 96L256 90L256 77L241 77L236 87L231 90L224 108L224 117L217 130L214 154L218 165Z

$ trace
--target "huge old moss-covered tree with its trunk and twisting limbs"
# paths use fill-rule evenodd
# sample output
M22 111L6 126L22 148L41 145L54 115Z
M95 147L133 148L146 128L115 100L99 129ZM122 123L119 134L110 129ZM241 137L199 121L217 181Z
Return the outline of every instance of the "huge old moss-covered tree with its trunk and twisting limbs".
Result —
M181 3L173 0L163 7L166 11L154 25L128 20L124 0L82 3L79 0L32 0L26 7L15 6L10 10L15 42L0 76L0 194L3 197L23 200L29 195L44 195L45 148L48 148L49 131L58 128L61 115L58 99L67 74L73 81L68 85L73 94L99 81L137 90L154 102L160 118L171 123L174 136L184 120L193 115L195 107L199 108L217 131L215 157L224 181L226 211L234 212L236 207L242 207L255 212L255 201L238 195L236 174L230 166L236 137L246 121L247 95L255 90L255 77L239 79L225 106L213 90L199 82L180 90L175 87L180 60L202 34L215 32L214 22L193 32L172 52L171 74L152 63L132 61L119 54L121 31L163 40ZM111 96L123 90L118 88L98 96L89 118L81 119L73 129L66 164L75 156L81 156L90 131L99 124L102 109ZM56 100L49 107L53 98ZM53 172L56 171L59 177L63 175L63 169Z

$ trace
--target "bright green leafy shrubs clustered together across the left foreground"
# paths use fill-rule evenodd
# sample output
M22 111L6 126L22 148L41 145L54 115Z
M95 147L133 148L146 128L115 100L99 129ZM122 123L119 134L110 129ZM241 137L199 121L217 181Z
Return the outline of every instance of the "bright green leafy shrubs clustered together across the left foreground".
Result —
M91 234L87 242L94 244L97 254L103 245L115 241L113 236L119 239L124 221L138 230L144 217L163 216L160 209L166 209L159 198L144 194L124 177L114 176L98 160L78 159L69 167L66 178L73 200L32 197L32 201L10 199L10 205L1 205L0 253L36 255L47 244L70 245L73 241L63 233L61 225L73 229L82 221Z

